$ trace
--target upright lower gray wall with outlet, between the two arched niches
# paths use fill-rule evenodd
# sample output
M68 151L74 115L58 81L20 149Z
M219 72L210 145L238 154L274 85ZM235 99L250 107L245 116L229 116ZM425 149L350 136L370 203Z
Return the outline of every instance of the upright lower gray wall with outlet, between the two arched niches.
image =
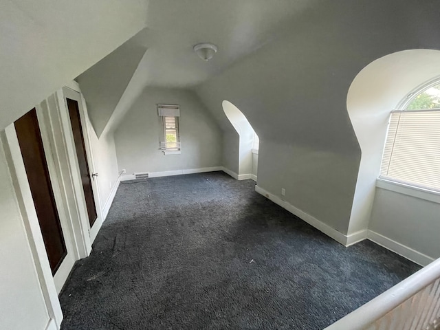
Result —
M285 188L285 201L346 234L355 184L348 169L355 167L356 160L332 151L264 141L259 148L258 184L277 196Z

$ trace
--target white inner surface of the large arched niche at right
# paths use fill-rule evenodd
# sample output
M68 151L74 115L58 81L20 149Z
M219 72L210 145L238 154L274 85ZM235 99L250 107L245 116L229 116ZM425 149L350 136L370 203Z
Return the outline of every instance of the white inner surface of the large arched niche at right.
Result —
M368 227L391 111L440 76L440 51L404 50L373 61L355 77L347 110L362 157L348 234Z

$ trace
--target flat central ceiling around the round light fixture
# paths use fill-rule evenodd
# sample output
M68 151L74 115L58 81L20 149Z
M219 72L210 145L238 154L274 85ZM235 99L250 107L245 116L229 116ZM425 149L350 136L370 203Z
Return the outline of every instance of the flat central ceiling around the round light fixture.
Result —
M143 85L192 87L276 36L287 21L316 1L151 0L148 54L140 63ZM208 62L192 50L210 42L219 51Z

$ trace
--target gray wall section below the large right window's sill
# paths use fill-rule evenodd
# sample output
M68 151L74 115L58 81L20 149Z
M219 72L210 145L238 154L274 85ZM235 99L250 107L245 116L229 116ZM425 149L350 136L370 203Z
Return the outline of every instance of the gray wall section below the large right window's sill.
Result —
M440 258L440 204L376 188L369 229L408 248Z

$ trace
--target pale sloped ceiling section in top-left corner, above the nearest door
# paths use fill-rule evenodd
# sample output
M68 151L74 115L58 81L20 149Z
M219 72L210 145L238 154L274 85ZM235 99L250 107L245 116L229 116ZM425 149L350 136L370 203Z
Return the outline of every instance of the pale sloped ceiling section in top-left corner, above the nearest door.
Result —
M144 0L1 1L0 128L142 30L147 7Z

